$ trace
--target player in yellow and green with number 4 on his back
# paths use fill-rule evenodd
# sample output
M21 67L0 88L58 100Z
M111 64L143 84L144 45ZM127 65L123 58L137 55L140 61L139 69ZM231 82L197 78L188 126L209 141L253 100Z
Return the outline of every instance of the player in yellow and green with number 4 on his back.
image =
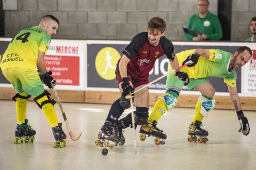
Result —
M18 92L12 98L16 101L17 112L16 138L13 141L15 144L34 142L36 131L32 129L26 119L27 100L32 96L48 119L57 145L60 147L66 145L66 142L63 142L66 135L61 128L62 124L58 123L54 109L56 102L51 100L49 97L51 94L44 90L44 85L37 72L38 68L41 73L44 73L42 75L43 82L49 88L51 88L51 83L56 85L54 78L46 71L44 54L58 27L58 19L51 15L44 16L39 26L24 29L15 35L3 55L0 64L2 73ZM62 143L60 144L60 142Z

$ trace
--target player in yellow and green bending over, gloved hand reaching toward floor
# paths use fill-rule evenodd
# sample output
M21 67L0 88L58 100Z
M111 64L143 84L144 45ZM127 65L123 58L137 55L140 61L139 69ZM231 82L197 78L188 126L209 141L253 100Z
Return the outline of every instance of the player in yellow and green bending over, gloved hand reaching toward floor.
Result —
M188 55L190 56L187 58ZM244 135L248 135L250 132L249 123L247 118L244 117L236 90L236 69L244 66L251 59L251 56L251 49L246 46L239 47L233 54L222 50L204 49L186 50L177 53L175 58L178 59L178 62L171 63L171 65L168 66L168 71L178 68L178 66L185 64L192 58L198 58L198 62L193 67L184 67L181 68L180 71L168 75L166 80L166 92L154 105L149 116L149 121L158 121L165 111L175 106L180 90L183 87L182 75L188 74L190 78L187 85L188 89L191 90L194 88L202 94L198 98L195 106L195 116L188 127L188 142L207 142L208 132L201 128L202 120L204 117L208 116L208 112L212 111L215 106L215 99L213 99L215 89L207 77L223 77L224 82L227 83L229 95L241 125L239 132L242 131ZM143 130L145 126L146 125L143 125L141 130Z

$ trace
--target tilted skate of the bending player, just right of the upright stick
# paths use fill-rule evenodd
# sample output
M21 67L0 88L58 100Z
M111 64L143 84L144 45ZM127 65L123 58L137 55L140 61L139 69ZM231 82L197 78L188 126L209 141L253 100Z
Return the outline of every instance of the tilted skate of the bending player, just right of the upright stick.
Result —
M140 128L139 139L144 141L146 137L153 137L154 143L158 146L160 144L165 144L166 135L163 133L163 130L160 130L156 127L157 122L156 120L147 121L146 124L142 125Z

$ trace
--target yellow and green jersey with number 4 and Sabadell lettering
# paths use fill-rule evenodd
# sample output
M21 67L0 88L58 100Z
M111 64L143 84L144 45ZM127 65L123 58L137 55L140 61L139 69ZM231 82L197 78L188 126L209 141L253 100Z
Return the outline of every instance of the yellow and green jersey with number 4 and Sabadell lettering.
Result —
M47 52L51 37L40 27L27 28L12 38L2 57L0 67L29 68L36 70L38 51Z

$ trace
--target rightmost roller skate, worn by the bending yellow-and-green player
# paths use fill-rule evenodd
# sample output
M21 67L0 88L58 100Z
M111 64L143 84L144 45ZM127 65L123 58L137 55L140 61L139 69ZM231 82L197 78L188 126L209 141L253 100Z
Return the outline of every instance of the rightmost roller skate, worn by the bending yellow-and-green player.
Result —
M188 126L188 142L206 143L208 141L208 132L201 128L202 122L196 120L195 123L190 122Z

